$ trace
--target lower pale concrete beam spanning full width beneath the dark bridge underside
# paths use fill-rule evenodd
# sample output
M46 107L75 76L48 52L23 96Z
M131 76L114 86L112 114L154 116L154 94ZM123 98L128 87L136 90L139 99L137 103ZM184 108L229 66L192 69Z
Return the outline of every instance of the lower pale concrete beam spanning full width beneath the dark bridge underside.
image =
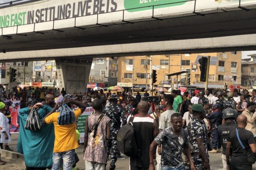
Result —
M247 51L256 49L256 34L189 40L141 42L38 51L0 53L0 62L34 61L55 58L93 58L145 54L181 54L216 51Z

